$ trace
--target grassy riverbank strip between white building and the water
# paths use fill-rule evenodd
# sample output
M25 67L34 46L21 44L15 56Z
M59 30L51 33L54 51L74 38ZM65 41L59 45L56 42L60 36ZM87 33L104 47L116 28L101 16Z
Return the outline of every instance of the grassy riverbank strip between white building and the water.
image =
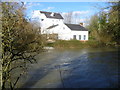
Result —
M56 49L81 49L81 48L99 48L99 47L115 47L114 43L105 44L98 41L78 41L78 40L57 40L54 43L48 43L46 46L54 47Z

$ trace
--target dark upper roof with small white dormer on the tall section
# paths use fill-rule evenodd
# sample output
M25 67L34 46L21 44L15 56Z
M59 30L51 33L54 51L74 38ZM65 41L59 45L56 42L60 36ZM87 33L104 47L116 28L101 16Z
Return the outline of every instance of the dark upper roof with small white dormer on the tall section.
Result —
M47 18L63 19L60 13L45 12L45 11L40 11L40 13L44 13ZM52 16L51 14L54 14L54 15Z

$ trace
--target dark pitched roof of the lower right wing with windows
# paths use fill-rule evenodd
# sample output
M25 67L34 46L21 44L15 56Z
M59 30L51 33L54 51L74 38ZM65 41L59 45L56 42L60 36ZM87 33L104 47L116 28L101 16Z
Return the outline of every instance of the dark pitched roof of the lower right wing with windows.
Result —
M68 26L73 31L88 31L86 28L78 24L65 24L65 25Z

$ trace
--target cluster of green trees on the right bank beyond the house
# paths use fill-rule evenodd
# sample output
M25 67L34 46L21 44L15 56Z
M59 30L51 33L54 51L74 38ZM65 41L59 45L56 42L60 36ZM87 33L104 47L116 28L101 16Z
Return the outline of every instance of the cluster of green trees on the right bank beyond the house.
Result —
M108 4L108 7L91 17L87 26L90 39L104 44L120 44L120 2Z

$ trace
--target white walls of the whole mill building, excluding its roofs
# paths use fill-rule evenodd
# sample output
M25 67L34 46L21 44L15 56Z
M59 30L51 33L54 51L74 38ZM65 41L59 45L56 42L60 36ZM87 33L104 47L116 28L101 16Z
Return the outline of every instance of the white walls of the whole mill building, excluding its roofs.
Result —
M73 39L73 35L76 35L76 39L79 40L79 35L81 35L81 40L84 40L84 35L86 35L86 39L88 40L88 31L73 31L70 30L64 23L63 19L54 19L54 18L47 18L43 13L40 11L35 11L34 17L37 17L40 21L41 25L41 34L58 34L58 39L61 40L71 40ZM43 19L43 21L42 21ZM52 29L46 29L52 25L57 25Z

